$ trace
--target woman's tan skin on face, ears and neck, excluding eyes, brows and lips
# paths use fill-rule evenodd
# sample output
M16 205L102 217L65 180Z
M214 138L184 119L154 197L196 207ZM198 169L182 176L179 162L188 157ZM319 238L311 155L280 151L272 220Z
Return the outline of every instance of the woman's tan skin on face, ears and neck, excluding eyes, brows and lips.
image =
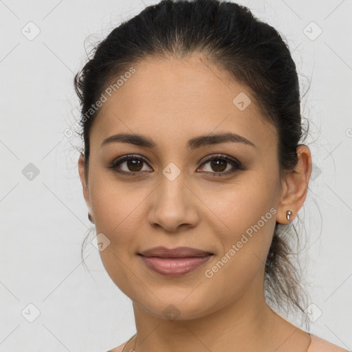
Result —
M287 223L287 210L293 211L292 221L305 201L309 148L298 146L296 172L281 179L276 129L263 118L248 87L228 80L196 55L148 58L133 67L136 73L103 104L94 121L87 178L82 156L78 169L96 233L110 241L100 252L102 263L133 300L135 350L307 351L309 335L267 306L263 284L275 222ZM232 102L241 92L252 100L243 111ZM239 134L255 147L226 142L186 148L192 137L223 132ZM116 133L145 135L157 147L122 142L100 146ZM234 173L213 177L217 168L203 160L218 153L238 159L244 170L228 162L221 170ZM133 169L122 162L120 168L140 174L121 175L109 168L127 154L144 157L147 163ZM162 173L170 162L180 171L173 181ZM207 278L205 270L270 208L276 210L271 219ZM137 256L158 245L189 246L214 255L197 270L170 278L152 272ZM163 314L170 304L179 313L176 320ZM134 346L133 338L124 351Z

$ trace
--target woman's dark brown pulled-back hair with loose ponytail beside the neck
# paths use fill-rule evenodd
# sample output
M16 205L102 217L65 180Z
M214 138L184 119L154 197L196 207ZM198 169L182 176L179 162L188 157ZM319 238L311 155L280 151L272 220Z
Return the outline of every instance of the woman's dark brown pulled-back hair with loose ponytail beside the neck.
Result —
M248 8L219 0L160 1L120 24L95 47L94 56L74 80L82 113L86 170L89 131L98 111L89 118L83 116L112 80L147 57L184 58L192 54L201 54L230 79L250 89L263 118L278 132L281 177L294 172L296 148L306 135L301 124L298 75L289 47L272 26L256 19ZM307 324L307 294L300 285L300 270L291 259L292 236L285 228L287 225L276 223L265 263L266 299L280 309L300 311ZM296 228L294 231L297 234Z

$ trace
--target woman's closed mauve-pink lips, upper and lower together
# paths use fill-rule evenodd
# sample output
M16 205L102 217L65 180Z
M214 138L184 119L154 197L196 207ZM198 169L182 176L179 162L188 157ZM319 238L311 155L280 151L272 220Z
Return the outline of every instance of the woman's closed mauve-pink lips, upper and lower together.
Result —
M196 270L213 255L190 247L155 247L138 253L146 267L164 276L181 276Z

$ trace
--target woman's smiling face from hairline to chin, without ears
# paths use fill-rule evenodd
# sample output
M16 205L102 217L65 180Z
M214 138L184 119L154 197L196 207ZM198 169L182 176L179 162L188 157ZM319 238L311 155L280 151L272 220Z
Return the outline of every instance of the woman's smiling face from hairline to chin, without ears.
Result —
M100 108L83 181L107 273L155 316L191 319L239 301L263 303L282 200L276 129L245 86L197 56L134 67ZM225 133L227 141L215 137ZM104 142L118 134L150 145ZM133 156L113 164L124 155ZM159 246L211 255L140 255Z

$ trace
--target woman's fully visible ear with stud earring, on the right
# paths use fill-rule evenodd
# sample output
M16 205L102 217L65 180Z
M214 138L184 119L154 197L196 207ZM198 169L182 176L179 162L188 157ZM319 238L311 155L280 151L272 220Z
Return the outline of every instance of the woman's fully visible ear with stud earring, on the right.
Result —
M281 190L281 203L278 206L276 221L289 223L303 206L307 196L309 178L311 176L311 152L307 146L300 144L296 149L298 162L294 171L287 173ZM292 210L289 220L287 210Z

